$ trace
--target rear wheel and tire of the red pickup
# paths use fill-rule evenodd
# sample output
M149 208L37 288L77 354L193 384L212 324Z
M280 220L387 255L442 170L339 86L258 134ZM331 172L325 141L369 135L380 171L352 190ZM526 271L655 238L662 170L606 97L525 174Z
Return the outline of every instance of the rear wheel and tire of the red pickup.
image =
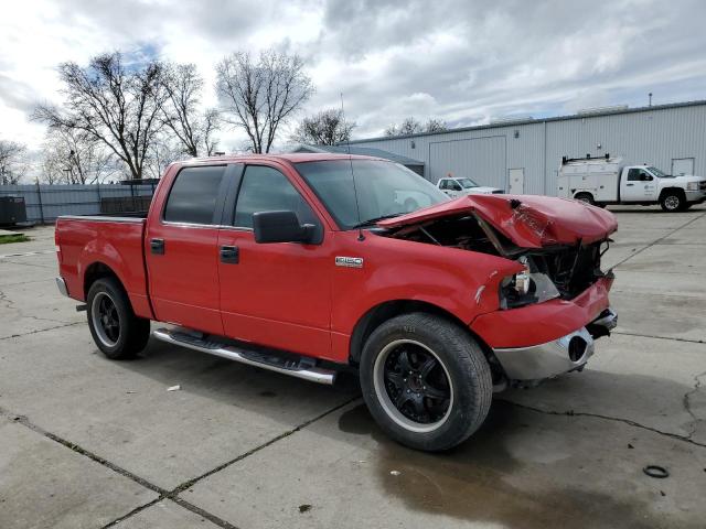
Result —
M101 278L88 290L88 328L98 348L113 360L133 358L150 337L150 321L138 317L120 283Z

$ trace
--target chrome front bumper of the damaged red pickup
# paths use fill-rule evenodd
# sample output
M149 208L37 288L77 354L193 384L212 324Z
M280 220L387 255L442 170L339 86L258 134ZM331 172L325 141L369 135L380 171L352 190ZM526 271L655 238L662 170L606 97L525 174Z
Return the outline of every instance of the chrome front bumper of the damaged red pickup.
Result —
M593 354L593 341L610 333L618 314L606 309L585 327L545 344L495 348L493 353L510 380L542 380L581 368Z

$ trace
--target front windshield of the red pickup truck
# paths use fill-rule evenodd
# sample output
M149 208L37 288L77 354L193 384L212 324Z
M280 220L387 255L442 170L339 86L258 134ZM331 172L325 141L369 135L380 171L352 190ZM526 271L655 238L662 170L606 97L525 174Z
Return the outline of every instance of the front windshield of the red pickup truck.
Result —
M342 229L449 199L429 181L393 162L339 159L301 162L296 166Z

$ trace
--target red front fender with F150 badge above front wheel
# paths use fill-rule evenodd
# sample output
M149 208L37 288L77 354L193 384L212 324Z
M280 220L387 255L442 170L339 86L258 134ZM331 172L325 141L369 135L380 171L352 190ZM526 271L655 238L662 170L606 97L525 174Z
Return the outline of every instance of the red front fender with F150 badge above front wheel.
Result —
M424 302L468 325L496 311L500 282L523 270L515 261L486 253L374 234L361 242L355 236L339 233L334 245L342 256L363 259L361 268L336 267L333 272L333 353L343 358L359 321L381 304Z

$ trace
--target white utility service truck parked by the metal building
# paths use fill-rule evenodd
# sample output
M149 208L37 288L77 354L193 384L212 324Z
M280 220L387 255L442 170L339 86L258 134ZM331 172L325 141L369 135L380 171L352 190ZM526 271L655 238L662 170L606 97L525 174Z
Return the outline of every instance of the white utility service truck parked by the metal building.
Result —
M557 196L597 206L660 204L665 212L683 212L706 201L706 179L673 176L651 165L624 165L621 158L561 159Z

